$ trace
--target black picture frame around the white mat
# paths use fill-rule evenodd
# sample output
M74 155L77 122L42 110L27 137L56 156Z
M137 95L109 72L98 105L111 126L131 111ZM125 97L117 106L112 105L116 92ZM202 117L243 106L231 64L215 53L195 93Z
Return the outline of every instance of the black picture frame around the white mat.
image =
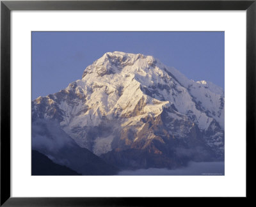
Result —
M151 206L154 203L165 202L169 205L170 199L172 201L179 199L174 197L10 197L10 11L12 10L246 10L246 197L236 199L235 202L244 204L244 201L253 199L255 196L253 166L256 148L255 1L1 1L1 206ZM202 198L188 199L198 203L198 199ZM208 199L215 202L212 198Z

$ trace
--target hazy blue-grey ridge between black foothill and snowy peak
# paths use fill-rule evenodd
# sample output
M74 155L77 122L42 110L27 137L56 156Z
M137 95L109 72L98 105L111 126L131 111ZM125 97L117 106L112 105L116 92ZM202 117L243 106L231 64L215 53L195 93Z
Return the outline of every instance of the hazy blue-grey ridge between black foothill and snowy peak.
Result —
M65 165L83 175L112 175L118 169L107 164L86 148L81 148L54 120L32 122L32 149L46 155L54 163Z

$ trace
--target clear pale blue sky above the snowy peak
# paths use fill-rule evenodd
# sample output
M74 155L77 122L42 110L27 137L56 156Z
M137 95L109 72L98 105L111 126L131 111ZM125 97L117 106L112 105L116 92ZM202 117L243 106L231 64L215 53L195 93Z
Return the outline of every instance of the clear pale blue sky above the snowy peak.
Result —
M224 88L224 32L32 32L32 99L66 88L113 51L152 55Z

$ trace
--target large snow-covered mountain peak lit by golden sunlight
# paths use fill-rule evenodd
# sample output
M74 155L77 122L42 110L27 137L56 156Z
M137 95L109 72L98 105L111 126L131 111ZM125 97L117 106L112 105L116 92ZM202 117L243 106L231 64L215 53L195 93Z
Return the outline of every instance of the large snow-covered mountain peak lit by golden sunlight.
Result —
M81 80L36 98L32 121L55 121L120 169L175 168L224 159L224 102L220 87L152 56L107 52Z

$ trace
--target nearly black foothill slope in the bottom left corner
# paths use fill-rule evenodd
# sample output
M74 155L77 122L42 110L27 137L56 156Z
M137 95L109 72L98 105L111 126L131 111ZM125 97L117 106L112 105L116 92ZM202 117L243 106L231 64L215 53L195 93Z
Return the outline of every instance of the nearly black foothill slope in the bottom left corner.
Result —
M32 150L32 175L80 175L66 166L58 165L42 153Z

